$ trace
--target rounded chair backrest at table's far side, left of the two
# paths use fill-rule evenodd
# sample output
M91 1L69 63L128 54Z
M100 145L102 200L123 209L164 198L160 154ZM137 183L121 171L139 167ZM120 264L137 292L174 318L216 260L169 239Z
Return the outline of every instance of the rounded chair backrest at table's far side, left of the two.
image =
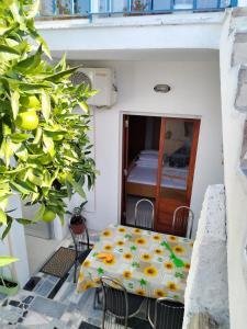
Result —
M154 204L148 198L141 198L135 204L135 226L147 229L154 228Z

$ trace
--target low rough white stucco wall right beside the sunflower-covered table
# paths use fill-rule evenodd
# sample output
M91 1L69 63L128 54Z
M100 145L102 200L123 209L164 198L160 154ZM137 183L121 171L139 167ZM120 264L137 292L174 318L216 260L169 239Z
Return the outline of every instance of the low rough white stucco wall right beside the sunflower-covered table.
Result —
M224 185L211 185L205 193L193 246L183 329L229 328L225 219ZM202 316L218 327L197 327L193 321Z

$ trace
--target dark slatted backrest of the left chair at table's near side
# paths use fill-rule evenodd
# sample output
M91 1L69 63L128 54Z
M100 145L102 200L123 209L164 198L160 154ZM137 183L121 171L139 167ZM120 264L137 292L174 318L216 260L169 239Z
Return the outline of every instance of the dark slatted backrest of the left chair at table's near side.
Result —
M102 276L103 320L102 328L127 328L128 302L126 288L116 280ZM117 319L117 321L115 320Z

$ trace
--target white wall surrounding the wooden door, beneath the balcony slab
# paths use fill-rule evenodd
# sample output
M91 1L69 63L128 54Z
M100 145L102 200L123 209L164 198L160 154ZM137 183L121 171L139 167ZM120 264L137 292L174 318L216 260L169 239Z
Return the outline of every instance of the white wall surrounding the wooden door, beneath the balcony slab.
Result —
M94 110L96 212L87 214L91 228L102 229L120 218L122 114L201 117L191 206L197 219L209 184L223 182L218 63L109 61L88 66L116 70L119 100L111 110ZM168 83L171 92L154 92ZM197 228L197 223L194 229Z

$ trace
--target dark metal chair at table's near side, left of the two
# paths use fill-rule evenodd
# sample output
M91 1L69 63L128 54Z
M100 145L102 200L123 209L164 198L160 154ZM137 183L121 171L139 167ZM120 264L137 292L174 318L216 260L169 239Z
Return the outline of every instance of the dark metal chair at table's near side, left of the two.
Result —
M141 309L144 297L128 294L126 288L116 280L102 276L103 318L102 329L127 328L127 320Z

